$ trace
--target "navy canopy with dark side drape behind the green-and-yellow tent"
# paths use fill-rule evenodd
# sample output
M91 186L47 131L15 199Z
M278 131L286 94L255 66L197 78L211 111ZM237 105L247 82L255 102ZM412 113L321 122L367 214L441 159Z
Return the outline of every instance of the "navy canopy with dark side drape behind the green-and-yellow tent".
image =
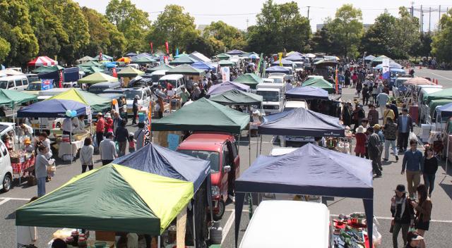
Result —
M112 163L144 171L156 175L162 175L167 178L174 178L183 181L193 182L194 199L192 200L193 208L196 209L191 214L193 221L194 240L202 240L203 229L207 229L206 207L202 206L204 196L206 204L210 209L210 216L213 218L210 184L210 161L198 159L194 156L172 151L165 147L160 147L150 143L138 151L132 152L125 156L115 159ZM206 183L203 185L203 182ZM200 190L202 186L202 190ZM199 190L199 192L198 192ZM205 192L205 193L204 193ZM201 204L201 205L200 205Z

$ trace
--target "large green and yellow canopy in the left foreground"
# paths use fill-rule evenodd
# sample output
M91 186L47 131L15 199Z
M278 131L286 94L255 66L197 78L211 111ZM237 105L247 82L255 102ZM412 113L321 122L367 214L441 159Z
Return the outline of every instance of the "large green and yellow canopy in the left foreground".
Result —
M193 188L193 182L110 163L20 207L16 225L161 235Z

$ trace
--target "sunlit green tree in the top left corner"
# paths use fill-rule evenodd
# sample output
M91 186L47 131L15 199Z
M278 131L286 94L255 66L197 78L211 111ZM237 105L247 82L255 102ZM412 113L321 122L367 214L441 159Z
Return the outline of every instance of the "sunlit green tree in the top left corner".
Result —
M8 65L21 66L36 56L39 45L25 0L0 0L0 38L6 41L1 42L3 53L9 50Z

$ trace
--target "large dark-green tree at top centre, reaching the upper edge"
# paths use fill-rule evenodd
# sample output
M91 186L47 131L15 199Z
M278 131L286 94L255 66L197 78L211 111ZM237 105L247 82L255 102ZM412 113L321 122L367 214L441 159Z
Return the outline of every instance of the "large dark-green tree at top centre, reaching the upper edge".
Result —
M304 51L309 47L309 20L301 16L296 2L274 4L268 0L256 18L256 25L248 29L250 51L272 54L284 49Z

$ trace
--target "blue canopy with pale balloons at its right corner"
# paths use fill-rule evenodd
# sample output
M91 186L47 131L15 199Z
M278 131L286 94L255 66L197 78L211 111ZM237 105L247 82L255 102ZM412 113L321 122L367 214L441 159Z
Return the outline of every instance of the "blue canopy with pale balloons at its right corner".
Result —
M66 111L77 111L77 116L86 113L86 106L78 101L51 99L39 101L17 111L17 117L59 118L66 117Z

